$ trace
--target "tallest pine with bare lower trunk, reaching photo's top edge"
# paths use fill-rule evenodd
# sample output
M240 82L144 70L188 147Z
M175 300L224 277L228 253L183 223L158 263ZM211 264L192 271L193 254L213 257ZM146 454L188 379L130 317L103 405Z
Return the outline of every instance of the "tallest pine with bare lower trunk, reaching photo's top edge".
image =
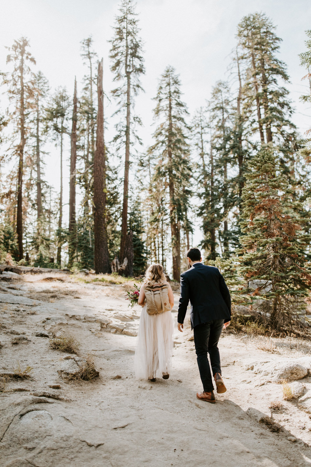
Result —
M129 192L129 170L130 170L130 149L133 145L133 138L136 134L134 124L141 124L140 119L133 115L133 95L137 95L142 87L139 76L145 73L142 57L142 43L139 37L138 18L135 13L133 0L122 0L119 7L120 14L116 17L114 27L114 37L111 42L110 58L111 71L115 74L114 81L119 85L112 91L112 95L117 99L117 114L121 115L121 120L117 124L117 134L114 142L117 151L125 149L124 161L124 186L123 186L123 207L121 223L120 242L120 273L132 275L133 265L130 257L133 257L133 245L131 244L132 234L128 233L128 192ZM132 139L131 139L132 138ZM139 140L139 139L138 139ZM127 257L129 255L129 257Z

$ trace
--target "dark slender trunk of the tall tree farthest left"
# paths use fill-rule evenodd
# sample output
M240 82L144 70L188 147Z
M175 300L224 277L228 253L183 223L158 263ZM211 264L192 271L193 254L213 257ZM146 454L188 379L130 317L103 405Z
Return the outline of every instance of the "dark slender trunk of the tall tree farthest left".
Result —
M20 100L20 131L21 142L18 146L19 163L18 163L18 181L17 181L17 212L16 212L16 233L19 249L19 260L23 259L23 196L22 196L22 183L23 183L23 163L24 163L24 147L25 147L25 101L24 101L24 53L25 46L21 50L21 100Z

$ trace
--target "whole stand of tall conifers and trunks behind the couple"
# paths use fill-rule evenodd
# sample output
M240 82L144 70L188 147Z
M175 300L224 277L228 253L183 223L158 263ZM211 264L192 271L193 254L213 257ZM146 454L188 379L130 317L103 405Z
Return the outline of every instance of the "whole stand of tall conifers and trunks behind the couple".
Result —
M73 77L71 98L61 86L52 92L35 73L28 39L14 41L1 73L10 100L9 112L0 112L1 260L10 253L20 264L128 276L142 274L147 263L166 270L172 263L179 280L199 225L204 259L235 277L236 293L248 292L250 306L261 297L256 303L274 328L304 308L311 285L311 130L301 135L292 121L275 29L263 13L242 18L228 79L215 83L194 115L182 100L178 73L167 66L154 97L153 144L140 150L134 102L145 67L133 0L121 1L110 41L117 104L110 142L103 60L91 36L81 42L86 74L79 91ZM299 57L308 91L301 99L310 103L311 31L306 34ZM63 219L65 138L69 219ZM59 151L58 193L44 176L48 142ZM250 282L257 284L252 292Z

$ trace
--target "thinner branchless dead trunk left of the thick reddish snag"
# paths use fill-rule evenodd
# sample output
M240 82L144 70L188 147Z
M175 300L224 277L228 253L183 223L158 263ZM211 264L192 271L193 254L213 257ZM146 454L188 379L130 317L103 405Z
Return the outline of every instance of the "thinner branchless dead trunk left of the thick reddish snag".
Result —
M68 267L72 268L76 252L76 121L77 121L76 78L73 96L72 129L70 134L70 181L69 181L69 245Z

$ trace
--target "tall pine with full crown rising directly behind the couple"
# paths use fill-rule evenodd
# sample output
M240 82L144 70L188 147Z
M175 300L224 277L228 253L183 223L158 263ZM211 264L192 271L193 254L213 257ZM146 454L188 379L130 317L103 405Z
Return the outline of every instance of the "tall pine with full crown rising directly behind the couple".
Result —
M187 226L192 174L187 142L189 127L184 118L188 112L180 97L179 77L173 67L168 66L160 78L155 98L154 115L159 126L153 134L155 144L150 150L159 159L155 177L166 180L175 280L180 278L180 230Z

